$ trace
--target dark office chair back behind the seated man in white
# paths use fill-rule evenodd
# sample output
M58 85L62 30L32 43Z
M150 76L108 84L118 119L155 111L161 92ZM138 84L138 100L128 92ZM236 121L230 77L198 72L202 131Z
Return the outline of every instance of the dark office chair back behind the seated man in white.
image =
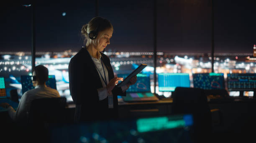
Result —
M51 127L61 126L66 121L66 101L65 97L56 97L34 99L31 102L30 111L27 113L27 129L31 133L31 142L49 142Z

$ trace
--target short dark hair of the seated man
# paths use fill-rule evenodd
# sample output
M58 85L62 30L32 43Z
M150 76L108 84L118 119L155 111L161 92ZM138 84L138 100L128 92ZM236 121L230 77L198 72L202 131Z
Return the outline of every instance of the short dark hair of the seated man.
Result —
M45 83L48 80L49 71L43 65L36 66L33 71L36 72L36 78L39 79L40 83Z

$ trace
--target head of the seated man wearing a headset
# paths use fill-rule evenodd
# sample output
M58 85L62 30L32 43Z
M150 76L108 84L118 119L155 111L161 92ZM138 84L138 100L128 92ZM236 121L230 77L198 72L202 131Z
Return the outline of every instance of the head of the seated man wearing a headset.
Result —
M48 80L49 71L43 65L38 65L33 69L32 82L33 86L45 84Z

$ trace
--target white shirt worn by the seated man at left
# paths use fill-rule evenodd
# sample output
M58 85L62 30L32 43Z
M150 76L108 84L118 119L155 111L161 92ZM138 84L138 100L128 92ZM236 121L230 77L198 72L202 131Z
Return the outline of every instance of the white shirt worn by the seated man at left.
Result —
M26 91L21 97L16 111L12 106L7 108L10 118L16 122L26 123L27 113L30 110L31 102L34 99L46 97L60 97L60 95L56 89L52 89L46 85L38 85L35 89Z

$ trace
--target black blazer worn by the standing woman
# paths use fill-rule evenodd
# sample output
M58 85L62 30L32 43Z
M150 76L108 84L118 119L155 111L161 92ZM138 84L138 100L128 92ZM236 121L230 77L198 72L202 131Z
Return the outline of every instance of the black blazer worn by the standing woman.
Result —
M100 53L103 63L108 69L109 81L114 78L114 72L107 55ZM102 83L97 69L86 48L82 48L69 62L69 89L76 104L75 122L118 118L117 96L126 96L120 87L112 90L113 106L108 108L108 98L99 101L97 89Z

